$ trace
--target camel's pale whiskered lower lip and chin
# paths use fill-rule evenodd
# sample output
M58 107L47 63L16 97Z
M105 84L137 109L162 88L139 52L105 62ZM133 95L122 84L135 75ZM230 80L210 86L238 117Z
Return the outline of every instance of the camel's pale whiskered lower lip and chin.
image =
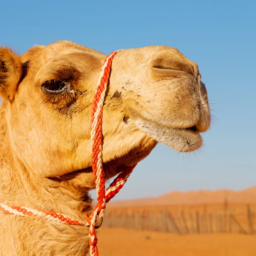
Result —
M195 151L203 144L200 133L192 128L160 127L152 122L137 120L137 127L149 137L180 152Z

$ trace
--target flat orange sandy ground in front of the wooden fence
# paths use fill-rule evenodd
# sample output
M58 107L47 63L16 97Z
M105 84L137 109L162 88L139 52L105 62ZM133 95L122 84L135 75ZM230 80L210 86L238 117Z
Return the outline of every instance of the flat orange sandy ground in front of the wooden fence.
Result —
M175 235L102 228L100 256L256 256L256 236L240 234Z

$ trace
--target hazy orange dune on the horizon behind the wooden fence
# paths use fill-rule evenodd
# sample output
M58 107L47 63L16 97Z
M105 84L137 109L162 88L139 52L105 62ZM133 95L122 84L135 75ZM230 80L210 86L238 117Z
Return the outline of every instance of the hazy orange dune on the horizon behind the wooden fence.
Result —
M155 198L141 198L136 200L109 202L108 207L134 207L170 204L212 204L223 203L225 198L227 198L229 203L256 203L256 186L240 191L227 189L215 191L173 191Z

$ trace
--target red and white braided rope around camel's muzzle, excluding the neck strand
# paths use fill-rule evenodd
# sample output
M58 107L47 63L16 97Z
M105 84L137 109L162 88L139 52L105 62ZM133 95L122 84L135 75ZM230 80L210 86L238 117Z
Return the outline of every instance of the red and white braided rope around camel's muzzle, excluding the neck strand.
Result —
M111 64L116 53L121 50L112 52L105 59L104 65L102 66L102 72L99 77L99 82L96 87L96 93L93 99L93 110L91 115L91 147L92 147L92 168L93 175L96 185L97 201L96 207L93 210L93 214L89 219L90 230L89 230L89 244L90 244L90 255L98 256L97 248L97 237L95 233L95 224L97 221L97 215L101 221L104 219L106 203L113 198L116 193L122 188L127 178L131 174L135 166L128 167L125 171L121 172L116 179L111 183L109 188L105 191L105 177L103 172L103 161L102 161L102 113L103 104L105 100L105 94L108 87L108 81L111 71Z

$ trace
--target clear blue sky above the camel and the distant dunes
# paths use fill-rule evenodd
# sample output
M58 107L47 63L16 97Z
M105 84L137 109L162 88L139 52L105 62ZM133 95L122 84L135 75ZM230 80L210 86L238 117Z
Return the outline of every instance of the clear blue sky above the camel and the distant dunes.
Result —
M158 144L116 199L171 190L256 185L255 1L3 1L0 45L20 53L70 40L106 54L176 47L200 67L215 121L204 147L179 154Z

